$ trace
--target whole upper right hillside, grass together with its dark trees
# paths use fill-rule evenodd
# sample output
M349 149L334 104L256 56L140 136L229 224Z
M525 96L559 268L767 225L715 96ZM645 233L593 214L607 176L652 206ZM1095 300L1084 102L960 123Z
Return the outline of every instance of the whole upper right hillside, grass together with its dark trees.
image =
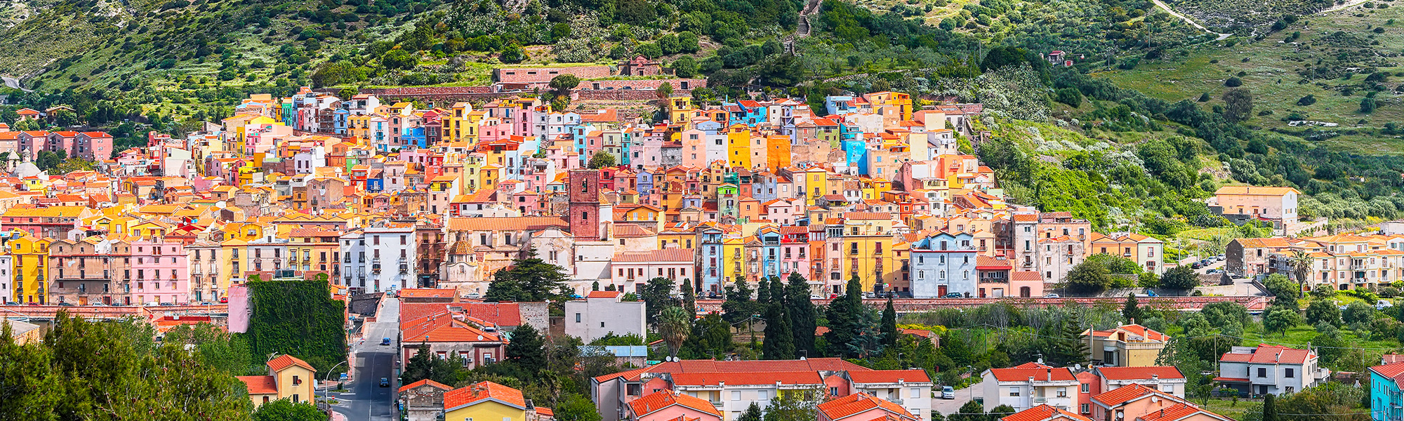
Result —
M1184 59L1141 60L1133 70L1095 76L1165 101L1207 94L1207 107L1223 105L1224 83L1237 77L1254 95L1251 126L1356 153L1401 153L1404 140L1387 125L1404 122L1397 88L1404 10L1366 6L1376 4L1303 17L1261 41L1205 45ZM1376 108L1363 112L1369 95ZM1297 119L1338 126L1289 125Z

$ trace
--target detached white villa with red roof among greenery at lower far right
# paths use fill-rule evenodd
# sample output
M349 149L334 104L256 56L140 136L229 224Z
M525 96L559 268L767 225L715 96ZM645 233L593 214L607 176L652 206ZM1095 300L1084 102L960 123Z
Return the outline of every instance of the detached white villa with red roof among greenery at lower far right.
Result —
M1214 382L1251 394L1282 394L1324 383L1330 376L1331 370L1317 365L1310 349L1258 345L1233 347L1220 356Z

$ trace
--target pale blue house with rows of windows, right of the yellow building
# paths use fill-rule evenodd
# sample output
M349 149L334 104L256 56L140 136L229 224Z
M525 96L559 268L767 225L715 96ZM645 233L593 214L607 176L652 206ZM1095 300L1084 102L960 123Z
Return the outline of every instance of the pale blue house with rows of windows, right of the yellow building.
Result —
M969 233L939 233L911 244L913 298L976 296L976 246Z

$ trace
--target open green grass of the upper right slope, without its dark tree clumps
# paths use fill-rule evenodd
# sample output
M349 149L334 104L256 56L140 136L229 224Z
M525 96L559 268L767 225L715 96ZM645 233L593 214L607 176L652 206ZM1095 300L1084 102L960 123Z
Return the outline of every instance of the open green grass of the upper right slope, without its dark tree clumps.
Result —
M1396 20L1393 25L1386 21ZM1386 28L1384 34L1373 34L1367 25ZM1275 32L1264 41L1238 44L1233 48L1203 45L1193 49L1188 59L1178 62L1143 62L1134 70L1118 70L1097 74L1116 81L1119 86L1143 91L1167 101L1193 100L1202 93L1209 93L1214 100L1209 104L1223 104L1219 95L1226 90L1223 81L1238 72L1247 72L1243 77L1244 87L1254 93L1255 112L1262 109L1273 111L1272 115L1254 116L1250 125L1262 128L1287 128L1280 118L1296 111L1307 115L1309 119L1337 122L1341 128L1356 128L1356 122L1363 119L1360 128L1380 128L1386 122L1404 122L1404 105L1401 97L1389 91L1377 94L1380 108L1373 114L1360 114L1359 104L1365 97L1356 90L1353 95L1344 97L1337 87L1359 84L1363 76L1349 80L1311 80L1299 84L1302 79L1294 73L1306 65L1314 63L1323 56L1332 53L1323 52L1328 46L1314 45L1311 49L1297 51L1290 44L1283 44L1293 31L1300 31L1299 44L1311 44L1320 36L1335 31L1356 34L1359 36L1373 35L1380 45L1373 49L1382 53L1398 52L1404 49L1404 7L1390 8L1362 8L1353 7L1327 15L1306 17L1285 31ZM1372 48L1369 45L1360 48ZM1334 52L1334 49L1331 49ZM1248 62L1243 62L1248 58ZM1212 63L1217 60L1217 63ZM1391 65L1404 63L1397 55L1384 58ZM1380 67L1382 72L1398 72L1398 67ZM1397 84L1400 77L1390 77L1387 86ZM1313 94L1317 102L1310 107L1296 105L1297 100ZM1345 135L1330 140L1332 146L1362 153L1404 153L1404 139L1376 135Z

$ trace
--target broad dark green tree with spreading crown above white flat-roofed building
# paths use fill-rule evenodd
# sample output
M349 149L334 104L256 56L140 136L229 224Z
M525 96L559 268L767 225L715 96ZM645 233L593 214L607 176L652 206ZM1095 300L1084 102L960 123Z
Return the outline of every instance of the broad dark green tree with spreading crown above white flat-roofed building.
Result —
M508 269L493 274L483 299L490 302L563 302L570 296L566 272L536 257L536 250L528 250L526 258L512 260Z

